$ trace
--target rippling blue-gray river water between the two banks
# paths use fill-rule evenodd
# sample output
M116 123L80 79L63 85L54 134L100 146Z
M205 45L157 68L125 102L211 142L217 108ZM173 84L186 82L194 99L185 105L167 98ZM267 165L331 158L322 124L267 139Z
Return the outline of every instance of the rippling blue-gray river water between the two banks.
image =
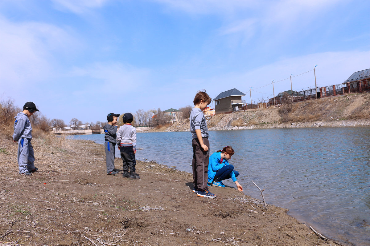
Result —
M102 134L71 138L104 144ZM211 154L233 147L245 194L261 199L253 180L266 202L324 236L370 245L370 127L210 131L209 142ZM138 160L192 172L190 132L138 132L137 149Z

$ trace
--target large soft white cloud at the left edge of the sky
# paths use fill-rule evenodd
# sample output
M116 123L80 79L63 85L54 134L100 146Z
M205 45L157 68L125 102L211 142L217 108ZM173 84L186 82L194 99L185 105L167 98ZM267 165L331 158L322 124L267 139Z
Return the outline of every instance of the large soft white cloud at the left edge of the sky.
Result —
M53 52L62 53L76 44L67 31L50 24L13 23L0 16L0 26L0 77L4 87L45 80L55 73Z

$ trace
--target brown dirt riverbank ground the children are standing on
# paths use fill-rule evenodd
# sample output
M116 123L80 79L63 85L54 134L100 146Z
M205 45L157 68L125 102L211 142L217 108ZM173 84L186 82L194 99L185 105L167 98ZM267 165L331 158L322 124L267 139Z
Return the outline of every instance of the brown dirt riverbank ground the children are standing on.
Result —
M15 144L0 152L0 245L340 245L235 188L197 197L192 174L154 162L138 162L140 180L110 176L101 145L70 145L35 148L32 176Z

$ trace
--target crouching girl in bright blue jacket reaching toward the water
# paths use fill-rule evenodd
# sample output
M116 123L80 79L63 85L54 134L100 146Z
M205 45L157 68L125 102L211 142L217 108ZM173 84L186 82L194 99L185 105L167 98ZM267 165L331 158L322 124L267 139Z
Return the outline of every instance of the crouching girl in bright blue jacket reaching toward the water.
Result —
M225 187L222 180L232 179L235 182L239 191L243 191L243 187L239 184L236 177L239 172L234 170L234 166L230 165L228 160L235 153L231 146L226 146L222 150L218 150L209 157L208 164L208 185Z

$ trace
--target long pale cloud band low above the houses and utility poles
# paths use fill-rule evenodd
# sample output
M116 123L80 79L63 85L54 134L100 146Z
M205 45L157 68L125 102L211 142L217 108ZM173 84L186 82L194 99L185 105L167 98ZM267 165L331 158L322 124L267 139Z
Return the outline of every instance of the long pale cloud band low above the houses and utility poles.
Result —
M257 101L272 97L272 80L275 79L275 95L290 90L290 74L293 73L293 90L314 88L316 67L317 86L343 83L352 73L370 68L370 51L323 52L293 58L280 59L277 62L260 66L248 71L225 73L209 78L198 78L198 83L208 88L211 97L225 90L236 88L245 94L252 89L252 99ZM299 75L304 73L302 75ZM297 76L299 75L299 76ZM283 80L286 79L286 80ZM280 81L283 80L283 81ZM279 82L280 81L280 82ZM254 91L253 91L254 90ZM262 93L258 93L258 92Z

